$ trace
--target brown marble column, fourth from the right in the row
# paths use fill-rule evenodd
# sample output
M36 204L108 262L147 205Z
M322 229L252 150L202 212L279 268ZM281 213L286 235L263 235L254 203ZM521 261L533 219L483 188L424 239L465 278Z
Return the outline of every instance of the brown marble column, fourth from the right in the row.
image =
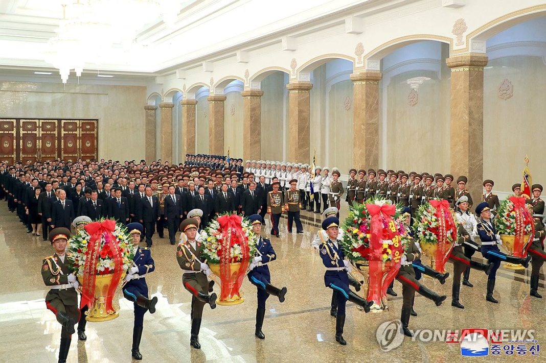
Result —
M243 102L242 155L246 160L258 160L262 156L262 96L263 90L249 89L241 92Z

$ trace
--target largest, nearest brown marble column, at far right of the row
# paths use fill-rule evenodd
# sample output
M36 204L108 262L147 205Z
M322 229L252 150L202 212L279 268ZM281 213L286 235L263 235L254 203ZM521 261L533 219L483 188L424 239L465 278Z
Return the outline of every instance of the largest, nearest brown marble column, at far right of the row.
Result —
M482 195L483 182L483 68L488 58L466 54L446 59L451 68L450 172L468 177L474 201ZM474 203L477 204L477 203Z

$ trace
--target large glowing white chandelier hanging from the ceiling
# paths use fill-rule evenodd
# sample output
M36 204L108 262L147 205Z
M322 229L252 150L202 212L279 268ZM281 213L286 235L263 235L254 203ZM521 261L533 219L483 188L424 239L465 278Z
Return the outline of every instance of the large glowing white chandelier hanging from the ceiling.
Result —
M70 71L81 76L85 64L99 63L114 47L134 45L135 35L158 19L173 27L180 0L71 0L64 3L56 37L48 42L45 61L67 83Z

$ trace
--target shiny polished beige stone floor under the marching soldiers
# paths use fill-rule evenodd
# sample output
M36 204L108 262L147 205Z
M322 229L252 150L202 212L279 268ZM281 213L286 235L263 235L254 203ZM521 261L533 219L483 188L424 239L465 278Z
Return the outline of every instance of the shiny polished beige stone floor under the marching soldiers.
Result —
M346 209L342 208L342 209ZM464 357L459 344L443 341L423 342L409 338L390 352L382 352L376 339L380 324L400 318L401 285L395 283L398 297L389 297L389 311L364 314L347 305L344 337L347 346L335 342L335 319L330 317L331 291L324 287L321 258L310 247L320 215L302 213L304 234L288 234L286 219L281 220L281 238L273 238L277 261L270 264L272 283L286 286L284 303L268 300L263 331L265 340L254 337L256 288L248 280L242 287L246 301L238 306L205 308L199 340L201 350L189 347L191 295L182 288L181 271L175 247L165 238L154 239L152 256L156 271L147 277L150 293L157 296L157 312L146 314L140 345L144 362L456 362ZM269 234L269 217L265 235ZM295 228L294 228L295 229ZM0 202L0 362L56 362L61 327L54 314L46 310L45 288L40 264L52 252L49 242L27 234L15 214ZM478 258L479 259L479 258ZM452 265L448 264L452 271ZM446 285L424 278L435 291L448 295L436 307L417 295L418 317L411 329L460 330L464 328L535 329L538 343L546 336L546 299L529 297L529 272L503 267L498 271L495 296L499 304L485 301L486 276L472 271L473 288L462 287L464 310L450 306L451 279ZM544 291L541 275L540 291ZM217 287L215 287L217 289ZM87 341L74 335L68 362L130 362L133 306L120 298L120 317L105 323L87 324ZM527 344L529 347L531 344ZM544 361L539 356L488 356L485 361ZM517 356L515 356L517 355Z

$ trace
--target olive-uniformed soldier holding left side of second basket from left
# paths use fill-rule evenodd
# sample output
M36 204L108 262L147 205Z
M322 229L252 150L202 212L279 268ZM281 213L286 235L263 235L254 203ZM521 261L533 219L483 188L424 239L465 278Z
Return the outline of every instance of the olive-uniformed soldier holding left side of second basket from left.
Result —
M209 283L207 276L211 274L209 265L201 255L204 245L196 240L199 222L189 217L180 223L180 230L185 234L186 241L180 241L176 248L176 260L183 271L182 285L192 294L192 329L189 345L195 349L201 349L199 344L199 329L203 307L209 304L210 308L216 308L216 294L212 292L213 282ZM203 262L201 262L203 259Z

